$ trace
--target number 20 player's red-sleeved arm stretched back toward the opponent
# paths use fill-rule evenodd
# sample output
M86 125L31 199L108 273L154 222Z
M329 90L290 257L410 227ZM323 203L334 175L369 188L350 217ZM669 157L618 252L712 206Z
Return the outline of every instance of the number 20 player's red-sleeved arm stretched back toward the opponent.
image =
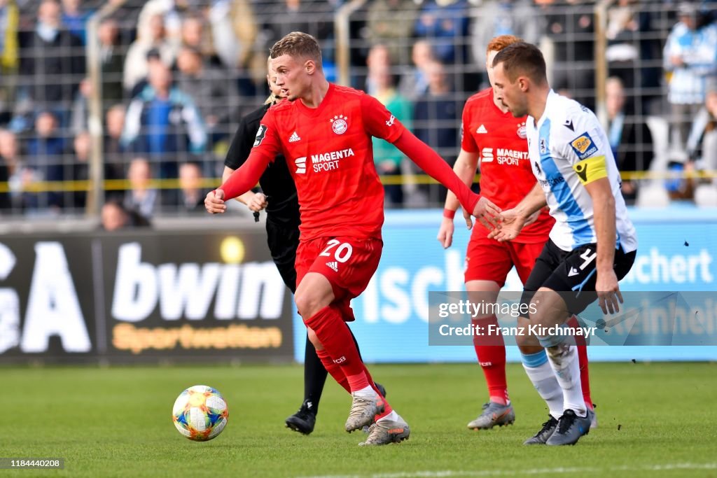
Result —
M421 168L425 173L440 182L443 186L449 188L455 193L461 206L468 211L472 211L473 216L491 222L497 221L500 214L500 208L495 206L478 194L470 191L458 176L453 173L443 158L429 148L429 146L409 130L404 130L401 137L394 142L394 146L399 148L411 161Z

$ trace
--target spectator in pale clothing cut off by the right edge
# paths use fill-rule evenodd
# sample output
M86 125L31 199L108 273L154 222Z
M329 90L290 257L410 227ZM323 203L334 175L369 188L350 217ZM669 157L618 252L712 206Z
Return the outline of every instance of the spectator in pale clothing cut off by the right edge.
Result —
M695 117L687 140L690 159L697 161L701 169L717 172L717 77L706 85L705 105ZM699 150L702 150L701 161ZM717 184L717 180L714 181Z

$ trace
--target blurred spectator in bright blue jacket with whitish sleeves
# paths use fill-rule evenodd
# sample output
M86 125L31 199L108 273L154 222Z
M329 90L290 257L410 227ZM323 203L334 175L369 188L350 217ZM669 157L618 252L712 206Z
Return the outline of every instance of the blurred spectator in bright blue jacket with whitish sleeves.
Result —
M172 86L172 74L162 63L153 64L149 85L130 103L122 133L124 147L148 154L161 163L159 177L176 178L176 153L202 153L206 127L191 97Z

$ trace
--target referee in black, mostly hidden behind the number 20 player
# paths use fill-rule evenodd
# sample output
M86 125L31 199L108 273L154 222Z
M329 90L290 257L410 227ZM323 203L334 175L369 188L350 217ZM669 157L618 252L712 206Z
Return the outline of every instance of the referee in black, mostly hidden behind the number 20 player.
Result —
M267 60L267 68L271 73L270 59ZM222 182L239 169L247 161L249 153L254 146L255 137L259 130L259 124L265 113L276 102L282 100L281 88L277 87L275 75L267 75L267 82L271 95L258 110L252 111L244 116L239 122L237 133L232 139L232 144L227 151L227 158L224 160L224 173ZM259 179L259 185L263 192L255 193L248 191L237 197L237 201L246 204L254 212L254 217L259 220L259 211L266 210L267 213L267 243L271 257L276 264L281 278L286 287L292 293L296 292L296 248L299 245L299 201L296 195L296 186L291 178L289 168L284 156L277 156L273 163L270 163L266 171ZM351 328L349 328L351 330ZM353 333L351 334L353 335ZM353 338L356 342L356 338ZM358 343L356 348L358 348ZM306 350L304 355L304 401L292 416L286 419L286 426L302 434L310 434L316 423L318 414L318 403L321 399L324 383L326 383L326 368L323 368L321 360L316 355L316 349L311 341L306 338ZM385 389L381 388L386 396Z

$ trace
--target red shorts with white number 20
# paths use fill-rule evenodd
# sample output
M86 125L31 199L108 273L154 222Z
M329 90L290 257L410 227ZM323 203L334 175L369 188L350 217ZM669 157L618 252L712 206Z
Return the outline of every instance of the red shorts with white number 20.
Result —
M337 301L364 292L379 267L381 239L318 237L302 241L296 251L296 285L307 272L318 272L331 282Z

